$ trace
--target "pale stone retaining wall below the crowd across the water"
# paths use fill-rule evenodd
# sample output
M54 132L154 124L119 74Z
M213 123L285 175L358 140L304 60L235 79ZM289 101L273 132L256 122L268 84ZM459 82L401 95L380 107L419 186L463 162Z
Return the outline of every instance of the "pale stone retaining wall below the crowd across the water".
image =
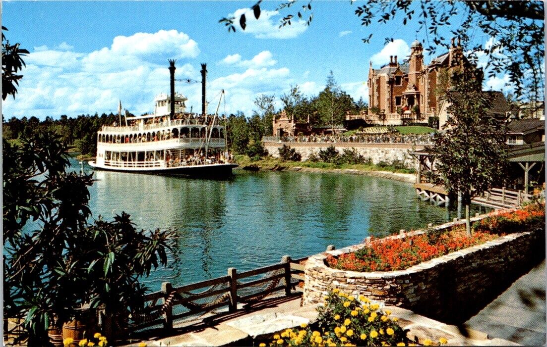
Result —
M329 146L335 146L342 154L345 148L355 148L365 159L370 158L373 164L380 161L393 163L394 160L403 161L409 169L414 168L416 160L410 155L411 152L421 151L424 145L412 145L409 143L356 143L356 142L338 142L338 143L301 143L301 142L265 142L264 147L272 157L278 158L278 149L283 145L294 148L296 152L302 155L302 160L306 160L311 154L319 153L321 149L327 149Z

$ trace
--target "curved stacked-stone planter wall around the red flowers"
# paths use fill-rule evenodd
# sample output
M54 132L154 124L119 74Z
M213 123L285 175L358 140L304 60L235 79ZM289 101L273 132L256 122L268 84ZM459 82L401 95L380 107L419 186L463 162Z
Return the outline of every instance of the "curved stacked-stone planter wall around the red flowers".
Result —
M311 256L304 271L304 305L320 302L329 289L339 288L348 294L362 294L433 319L456 323L476 314L545 258L545 231L498 237L402 271L354 272L336 270L325 264L327 254L340 255L363 246Z

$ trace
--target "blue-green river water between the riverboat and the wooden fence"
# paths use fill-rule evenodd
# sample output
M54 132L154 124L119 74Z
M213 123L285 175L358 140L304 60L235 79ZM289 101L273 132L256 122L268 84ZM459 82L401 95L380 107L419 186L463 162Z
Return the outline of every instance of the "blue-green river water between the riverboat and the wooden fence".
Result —
M78 161L71 159L74 170ZM84 165L89 173L92 168ZM234 170L225 180L95 171L93 217L125 211L142 229L177 230L180 260L155 271L161 282L182 285L360 243L428 223L454 211L422 202L410 183L362 175ZM473 211L475 212L475 211ZM179 274L179 276L177 275Z

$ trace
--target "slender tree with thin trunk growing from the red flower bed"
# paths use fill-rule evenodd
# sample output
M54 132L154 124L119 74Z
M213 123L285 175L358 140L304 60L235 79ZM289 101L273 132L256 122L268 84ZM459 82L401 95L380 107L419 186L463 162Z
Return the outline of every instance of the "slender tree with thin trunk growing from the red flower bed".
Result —
M446 98L450 117L428 151L437 159L439 175L435 182L451 194L461 194L470 235L471 200L505 178L505 119L488 113L490 94L482 91L480 72L453 74Z

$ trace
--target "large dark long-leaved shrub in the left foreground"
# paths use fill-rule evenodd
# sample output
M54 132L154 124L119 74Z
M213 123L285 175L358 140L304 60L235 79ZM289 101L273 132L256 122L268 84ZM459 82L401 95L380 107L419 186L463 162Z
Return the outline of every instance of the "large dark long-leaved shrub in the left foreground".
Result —
M90 224L93 180L66 172L59 135L3 147L4 314L26 316L21 338L45 345L53 316L62 324L83 303L126 316L142 308L139 278L167 264L171 232L137 231L125 213Z

